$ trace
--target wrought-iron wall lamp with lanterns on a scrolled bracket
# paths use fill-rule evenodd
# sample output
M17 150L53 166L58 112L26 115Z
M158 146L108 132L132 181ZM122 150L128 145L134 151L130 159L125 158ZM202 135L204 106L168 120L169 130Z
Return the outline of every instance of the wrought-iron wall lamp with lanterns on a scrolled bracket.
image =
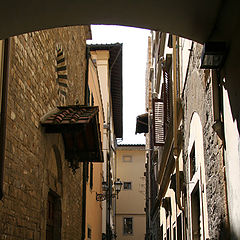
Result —
M107 182L102 182L102 190L103 190L103 193L96 193L96 200L98 202L102 202L104 200L106 200L107 198L115 198L117 197L118 199L118 194L119 192L121 191L122 189L122 182L120 181L120 178L118 178L115 182L114 182L114 189L115 189L115 192L112 193L110 191L110 188L107 184Z

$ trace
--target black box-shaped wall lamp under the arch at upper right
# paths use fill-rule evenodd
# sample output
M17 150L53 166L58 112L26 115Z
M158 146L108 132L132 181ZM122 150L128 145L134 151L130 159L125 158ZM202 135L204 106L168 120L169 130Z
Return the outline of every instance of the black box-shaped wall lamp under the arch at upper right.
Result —
M226 56L225 42L206 42L201 56L201 69L219 69Z

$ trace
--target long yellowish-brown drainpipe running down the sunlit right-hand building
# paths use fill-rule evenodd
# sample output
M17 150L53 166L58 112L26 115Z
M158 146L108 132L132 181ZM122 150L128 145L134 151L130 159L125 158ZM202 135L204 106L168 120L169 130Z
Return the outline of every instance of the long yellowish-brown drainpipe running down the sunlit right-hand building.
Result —
M177 49L176 42L178 42L178 37L173 35L173 154L175 158L175 165L176 165L176 194L177 194L177 204L180 210L184 211L184 208L181 204L181 194L180 194L180 177L179 177L179 154L178 154L178 115L177 115L177 91L179 91L179 85L177 83L177 54L179 48ZM179 70L179 68L178 68ZM178 74L179 77L179 74Z

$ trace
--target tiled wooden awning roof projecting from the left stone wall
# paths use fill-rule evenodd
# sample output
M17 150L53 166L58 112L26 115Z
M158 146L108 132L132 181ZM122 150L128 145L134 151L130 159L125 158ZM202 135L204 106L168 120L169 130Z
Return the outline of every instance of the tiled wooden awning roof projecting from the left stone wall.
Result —
M47 133L61 133L71 163L103 162L98 107L57 107L41 119Z

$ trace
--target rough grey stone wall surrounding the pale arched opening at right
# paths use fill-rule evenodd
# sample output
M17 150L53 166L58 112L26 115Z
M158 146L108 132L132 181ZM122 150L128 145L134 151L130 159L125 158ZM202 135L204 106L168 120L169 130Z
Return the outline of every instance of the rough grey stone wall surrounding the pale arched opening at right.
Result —
M190 57L188 77L184 87L184 160L188 153L190 122L194 112L201 119L204 141L204 161L206 173L207 211L210 239L227 239L226 194L223 171L223 142L212 126L213 99L212 78L208 70L200 70L202 46L194 44ZM188 173L187 173L188 174ZM188 176L188 175L186 175Z

